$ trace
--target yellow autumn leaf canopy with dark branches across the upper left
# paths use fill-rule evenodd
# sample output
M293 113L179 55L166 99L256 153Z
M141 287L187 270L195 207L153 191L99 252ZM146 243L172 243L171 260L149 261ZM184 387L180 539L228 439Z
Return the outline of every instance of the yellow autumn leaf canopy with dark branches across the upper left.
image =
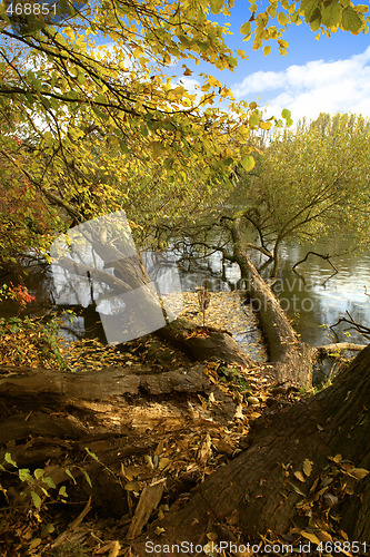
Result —
M368 30L367 7L350 0L262 6L250 2L250 21L241 27L254 49L274 40L283 53L283 31L301 20L317 32ZM236 104L210 75L198 95L169 77L179 60L184 76L187 63L201 60L234 69L246 55L236 56L227 26L212 21L232 7L232 0L99 0L66 17L61 2L58 26L0 7L3 251L9 227L24 248L42 234L122 207L146 236L148 223L222 199L234 170L253 167L252 136L273 120L264 121L256 102ZM291 121L289 111L282 116ZM22 205L18 215L7 214L18 192L27 193L26 227Z

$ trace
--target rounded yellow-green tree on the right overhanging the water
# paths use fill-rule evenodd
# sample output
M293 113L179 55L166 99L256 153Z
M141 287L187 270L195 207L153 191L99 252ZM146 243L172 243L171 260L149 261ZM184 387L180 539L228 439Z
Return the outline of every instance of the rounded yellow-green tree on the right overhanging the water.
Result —
M368 244L369 121L354 115L324 115L301 121L294 131L271 138L251 173L243 173L234 198L258 250L279 267L279 248L288 238L352 236Z

